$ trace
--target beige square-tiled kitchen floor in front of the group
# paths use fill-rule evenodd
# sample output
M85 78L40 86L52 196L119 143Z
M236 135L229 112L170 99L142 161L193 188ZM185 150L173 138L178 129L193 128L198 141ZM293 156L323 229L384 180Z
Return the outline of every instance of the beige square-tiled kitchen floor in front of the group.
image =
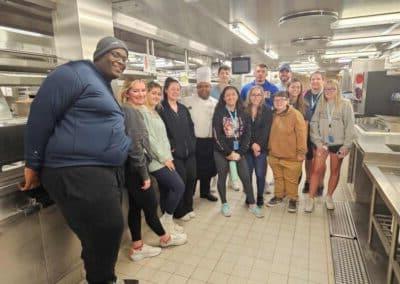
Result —
M271 195L266 195L268 200ZM154 258L133 263L127 257L129 236L123 242L117 273L140 283L334 283L328 220L322 199L313 214L303 212L300 196L296 214L287 202L264 207L265 218L253 217L244 194L228 190L232 217L220 214L220 203L200 200L197 217L179 222L188 234L184 246L163 249ZM147 226L143 239L156 245Z

